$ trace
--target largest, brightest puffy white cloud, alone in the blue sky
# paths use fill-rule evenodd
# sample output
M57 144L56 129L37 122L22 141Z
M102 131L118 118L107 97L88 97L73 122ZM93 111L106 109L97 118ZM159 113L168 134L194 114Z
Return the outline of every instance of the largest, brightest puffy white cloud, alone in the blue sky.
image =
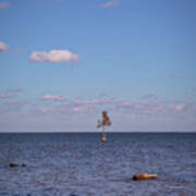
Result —
M49 63L78 61L78 54L74 54L69 50L51 50L49 52L38 51L32 52L29 60L35 61L46 61Z

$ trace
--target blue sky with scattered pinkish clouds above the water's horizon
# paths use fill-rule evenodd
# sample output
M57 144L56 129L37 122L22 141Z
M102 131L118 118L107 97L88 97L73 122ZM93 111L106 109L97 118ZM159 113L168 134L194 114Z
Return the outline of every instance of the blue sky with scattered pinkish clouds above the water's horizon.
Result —
M0 0L0 132L196 132L195 0Z

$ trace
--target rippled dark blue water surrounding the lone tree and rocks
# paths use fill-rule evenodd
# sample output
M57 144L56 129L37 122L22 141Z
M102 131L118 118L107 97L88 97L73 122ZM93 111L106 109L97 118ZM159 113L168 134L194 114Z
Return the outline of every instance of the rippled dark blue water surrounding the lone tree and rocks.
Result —
M100 139L95 133L0 134L0 196L196 195L196 133ZM158 179L132 181L143 172Z

